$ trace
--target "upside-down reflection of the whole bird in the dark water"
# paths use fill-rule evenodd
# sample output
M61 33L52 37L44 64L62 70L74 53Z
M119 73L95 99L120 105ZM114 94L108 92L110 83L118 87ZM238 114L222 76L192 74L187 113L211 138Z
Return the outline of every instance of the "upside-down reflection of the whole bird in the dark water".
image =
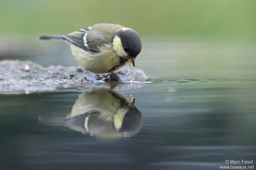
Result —
M142 114L129 98L112 90L92 90L80 95L66 118L39 116L44 125L64 125L83 134L102 139L136 135L142 126Z

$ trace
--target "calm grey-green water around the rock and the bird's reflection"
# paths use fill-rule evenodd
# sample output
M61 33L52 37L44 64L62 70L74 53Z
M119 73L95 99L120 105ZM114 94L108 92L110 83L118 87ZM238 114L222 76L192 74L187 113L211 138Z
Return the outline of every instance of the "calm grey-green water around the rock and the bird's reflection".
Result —
M38 121L40 115L66 117L87 89L0 95L1 169L220 169L220 165L242 165L226 164L227 159L253 159L247 165L255 165L255 42L154 42L148 38L143 47L136 66L152 83L114 89L128 100L130 95L135 97L143 117L137 134L103 140L56 120L49 123L55 126ZM52 58L51 49L36 57L24 54L17 58L44 66L76 65L66 46L61 48L64 56Z

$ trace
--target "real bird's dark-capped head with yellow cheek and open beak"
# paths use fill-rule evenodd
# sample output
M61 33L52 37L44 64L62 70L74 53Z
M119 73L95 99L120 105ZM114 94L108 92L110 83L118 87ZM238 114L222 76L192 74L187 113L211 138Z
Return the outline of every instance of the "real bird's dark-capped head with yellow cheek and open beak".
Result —
M140 35L130 28L118 29L113 37L113 49L119 57L128 60L132 69L135 58L141 51Z

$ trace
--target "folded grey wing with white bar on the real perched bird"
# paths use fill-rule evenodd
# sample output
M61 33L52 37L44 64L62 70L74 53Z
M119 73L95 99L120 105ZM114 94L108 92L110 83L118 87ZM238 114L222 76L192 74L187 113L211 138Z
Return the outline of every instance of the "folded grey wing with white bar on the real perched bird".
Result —
M91 28L83 28L62 37L86 51L99 52L98 48L108 43L108 40L99 31L91 30Z

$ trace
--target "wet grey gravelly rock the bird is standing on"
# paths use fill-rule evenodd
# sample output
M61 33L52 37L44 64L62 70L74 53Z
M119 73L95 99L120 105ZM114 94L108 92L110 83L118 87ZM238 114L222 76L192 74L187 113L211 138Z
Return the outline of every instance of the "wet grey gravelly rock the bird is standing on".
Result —
M145 73L141 69L123 67L116 72L122 81L145 81ZM104 82L106 74L94 74L98 80ZM38 91L52 91L64 84L68 87L91 84L92 79L83 69L70 66L43 67L32 61L2 60L0 61L0 93L30 93ZM54 85L54 86L53 86ZM58 85L58 86L56 86Z

